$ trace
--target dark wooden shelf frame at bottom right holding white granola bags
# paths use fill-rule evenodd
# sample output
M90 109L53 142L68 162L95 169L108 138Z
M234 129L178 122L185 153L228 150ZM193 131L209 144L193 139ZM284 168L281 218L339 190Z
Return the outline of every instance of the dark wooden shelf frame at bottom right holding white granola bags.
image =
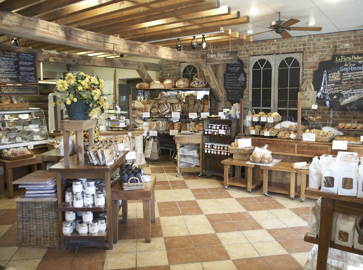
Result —
M311 237L307 234L304 237L306 242L319 245L317 270L326 269L329 247L363 255L362 250L339 245L330 241L333 211L360 216L363 214L363 198L321 192L320 189L311 188L306 188L305 192L306 195L321 197L319 237Z

